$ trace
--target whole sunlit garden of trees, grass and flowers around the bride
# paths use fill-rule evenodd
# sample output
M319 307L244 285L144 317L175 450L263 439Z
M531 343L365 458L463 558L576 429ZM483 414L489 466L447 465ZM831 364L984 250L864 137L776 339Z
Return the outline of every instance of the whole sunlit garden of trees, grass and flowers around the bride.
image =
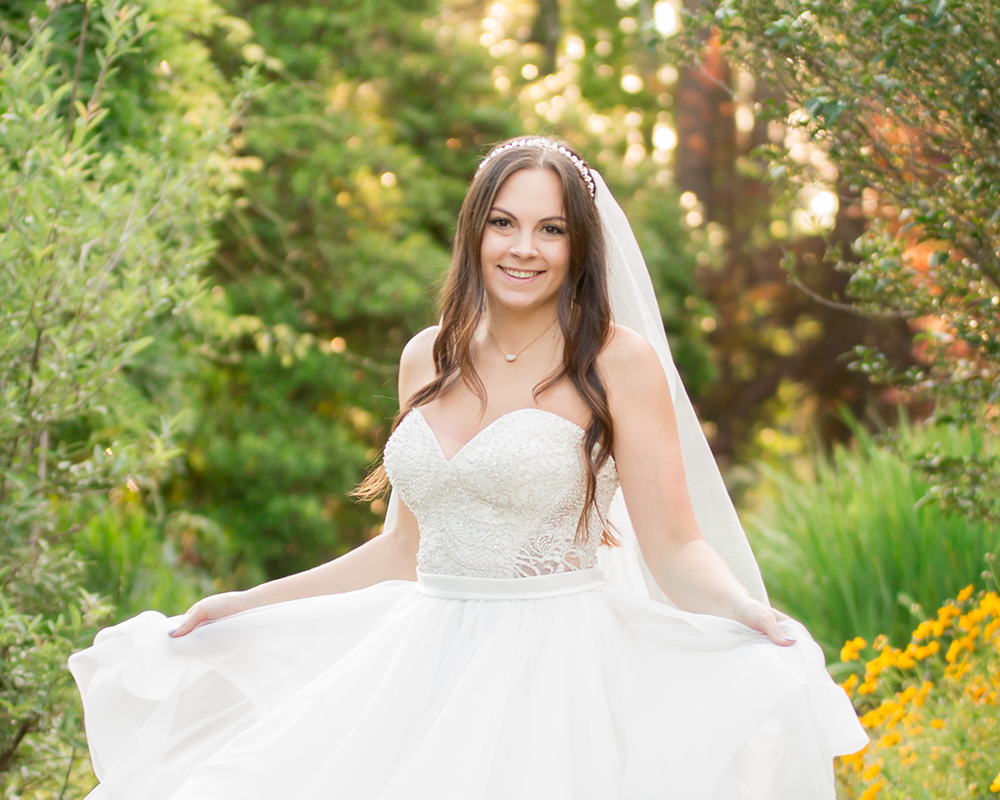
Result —
M841 796L996 797L998 71L994 0L5 0L3 797L93 786L97 629L378 533L346 493L523 132L630 216L772 600L872 733Z

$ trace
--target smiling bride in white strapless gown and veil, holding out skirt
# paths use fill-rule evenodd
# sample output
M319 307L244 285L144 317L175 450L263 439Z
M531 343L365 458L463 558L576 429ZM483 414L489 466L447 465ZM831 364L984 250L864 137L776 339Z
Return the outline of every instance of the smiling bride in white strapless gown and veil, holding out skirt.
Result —
M600 176L483 160L406 346L380 536L70 668L92 798L802 800L867 741L770 608Z

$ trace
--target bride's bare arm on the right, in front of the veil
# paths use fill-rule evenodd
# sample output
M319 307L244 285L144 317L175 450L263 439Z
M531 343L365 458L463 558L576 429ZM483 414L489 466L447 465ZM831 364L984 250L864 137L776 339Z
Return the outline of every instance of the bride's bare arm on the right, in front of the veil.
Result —
M791 644L778 625L784 615L752 599L701 536L670 387L652 346L619 326L602 354L601 370L625 505L657 585L679 608L730 617L777 644Z

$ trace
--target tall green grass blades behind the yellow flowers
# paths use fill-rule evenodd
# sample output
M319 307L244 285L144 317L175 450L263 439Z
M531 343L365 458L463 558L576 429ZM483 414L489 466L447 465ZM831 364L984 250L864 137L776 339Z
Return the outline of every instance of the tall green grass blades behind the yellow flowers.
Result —
M848 639L909 639L923 609L980 580L1000 531L921 503L928 484L854 425L850 447L809 459L806 475L761 467L747 532L774 605L805 623L831 662ZM979 446L950 426L898 428L904 451Z

